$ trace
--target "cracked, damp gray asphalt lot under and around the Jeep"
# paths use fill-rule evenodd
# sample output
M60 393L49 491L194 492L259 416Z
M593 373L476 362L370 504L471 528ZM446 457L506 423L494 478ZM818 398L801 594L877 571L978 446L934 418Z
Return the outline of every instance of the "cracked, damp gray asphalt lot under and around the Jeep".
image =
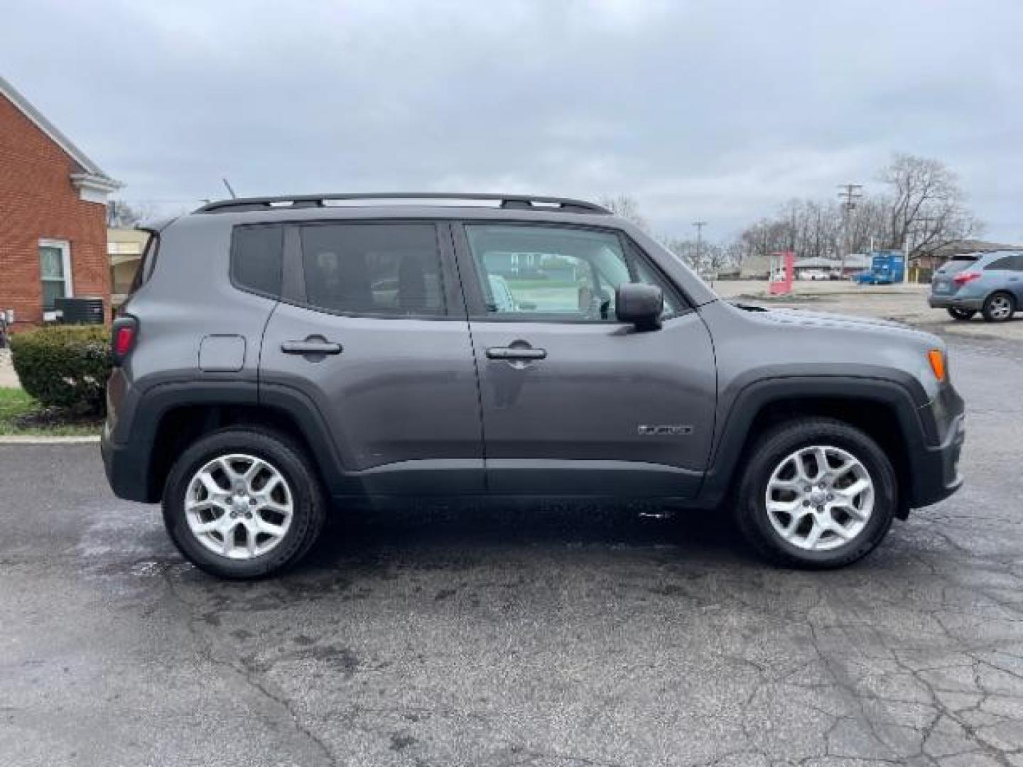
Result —
M431 506L223 583L95 446L0 446L0 764L1023 765L1023 344L950 339L967 485L834 573L719 516Z

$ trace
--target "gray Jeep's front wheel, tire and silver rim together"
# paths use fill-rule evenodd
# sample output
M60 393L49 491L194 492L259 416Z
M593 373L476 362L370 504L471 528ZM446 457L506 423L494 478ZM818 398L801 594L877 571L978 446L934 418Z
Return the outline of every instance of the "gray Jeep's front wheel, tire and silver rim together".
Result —
M895 473L857 428L829 418L776 426L753 450L740 488L746 539L780 565L826 569L865 556L895 514Z

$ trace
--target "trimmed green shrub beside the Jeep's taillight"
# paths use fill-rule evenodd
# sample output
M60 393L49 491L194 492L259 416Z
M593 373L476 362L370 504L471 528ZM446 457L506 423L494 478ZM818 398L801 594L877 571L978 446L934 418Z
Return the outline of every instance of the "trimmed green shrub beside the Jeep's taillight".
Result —
M102 413L110 374L109 330L102 325L51 325L10 341L25 391L48 407Z

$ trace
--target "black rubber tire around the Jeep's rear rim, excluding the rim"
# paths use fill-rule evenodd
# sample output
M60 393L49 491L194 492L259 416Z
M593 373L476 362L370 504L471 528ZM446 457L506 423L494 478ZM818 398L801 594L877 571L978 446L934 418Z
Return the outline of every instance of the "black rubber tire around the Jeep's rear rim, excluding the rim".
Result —
M185 518L185 495L192 477L218 455L244 453L272 464L287 482L294 509L287 532L269 551L251 559L230 559L211 551ZM164 524L171 540L199 570L230 580L264 578L298 562L319 537L326 513L323 489L305 452L279 433L260 427L212 432L188 446L171 467L164 486Z

